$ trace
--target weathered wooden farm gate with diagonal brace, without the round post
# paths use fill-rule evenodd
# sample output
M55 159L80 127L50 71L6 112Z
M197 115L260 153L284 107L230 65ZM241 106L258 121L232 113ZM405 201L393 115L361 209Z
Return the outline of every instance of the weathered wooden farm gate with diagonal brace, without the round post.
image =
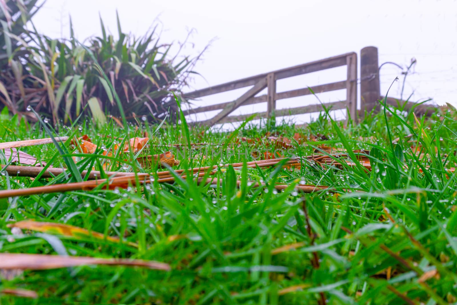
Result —
M218 112L213 118L206 121L200 121L197 123L213 126L218 123L232 123L244 121L250 117L250 114L242 114L236 116L230 116L240 106L251 105L261 102L267 102L267 111L258 112L256 118L269 118L274 113L276 117L287 116L289 114L303 114L323 111L322 104L307 105L302 107L293 107L286 109L276 109L276 101L296 96L304 96L312 94L313 92L306 88L299 88L290 91L276 92L276 80L281 80L287 77L303 75L311 72L320 70L331 69L340 66L347 66L347 77L345 80L313 86L311 87L314 93L321 93L327 91L335 91L340 89L346 89L346 100L324 103L325 107L331 107L331 110L346 109L352 119L356 119L357 115L357 54L354 52L341 54L338 56L330 57L327 59L321 59L307 64L300 64L290 68L281 70L271 71L268 73L247 77L241 80L231 81L225 84L189 92L183 94L183 97L187 100L197 99L202 96L210 96L213 94L232 91L239 88L250 87L242 96L232 102L223 102L215 105L208 105L198 108L192 108L186 110L185 114L197 114L201 112L208 112L214 110L222 110ZM255 96L260 91L267 88L267 94L261 96Z

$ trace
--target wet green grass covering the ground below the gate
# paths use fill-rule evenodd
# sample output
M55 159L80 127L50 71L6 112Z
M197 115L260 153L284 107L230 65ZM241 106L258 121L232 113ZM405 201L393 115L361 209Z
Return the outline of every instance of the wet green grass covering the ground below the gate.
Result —
M100 127L80 120L50 134L54 126L46 122L29 125L3 113L1 142L70 139L20 149L66 173L31 178L2 170L1 189L77 182L81 171L92 169L100 178L103 171L154 177L158 169L142 168L135 157L167 150L180 161L174 169L220 166L211 183L172 174L170 183L155 176L141 187L0 199L1 253L141 259L170 267L2 269L1 304L455 303L457 114L439 109L416 121L412 112L391 110L347 126L322 115L303 129L246 123L230 133L185 123L157 128L141 119L120 127L111 119ZM114 149L145 132L149 142L142 150ZM70 143L83 135L97 145L96 153L82 154ZM103 155L107 151L113 155ZM327 155L329 162L246 165L272 154ZM361 156L369 162L357 161ZM0 160L10 163L5 153ZM222 166L238 162L244 164ZM277 183L286 186L277 190ZM304 193L298 184L328 188ZM23 220L54 226L12 225Z

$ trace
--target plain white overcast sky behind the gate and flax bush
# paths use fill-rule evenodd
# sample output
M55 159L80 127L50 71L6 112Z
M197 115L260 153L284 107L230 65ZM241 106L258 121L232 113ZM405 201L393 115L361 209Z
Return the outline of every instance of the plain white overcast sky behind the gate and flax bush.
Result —
M412 101L432 97L438 104L457 105L456 0L47 0L33 21L39 32L68 37L70 14L76 37L84 40L101 35L100 12L105 26L117 37L116 9L123 32L137 36L157 18L163 27L163 43L182 41L187 31L195 29L190 39L195 47L188 46L187 54L197 54L217 38L195 68L204 79L197 77L193 89L352 51L357 52L360 64L360 49L376 46L380 64L393 61L406 67L411 58L417 59L414 74L406 79L404 98L414 91ZM328 71L290 84L278 83L278 91L345 78L343 70ZM382 93L400 77L389 94L400 97L401 70L384 65L380 75ZM242 93L234 92L218 102ZM335 97L323 99L333 102ZM200 104L209 102L214 101ZM264 111L259 109L254 111Z

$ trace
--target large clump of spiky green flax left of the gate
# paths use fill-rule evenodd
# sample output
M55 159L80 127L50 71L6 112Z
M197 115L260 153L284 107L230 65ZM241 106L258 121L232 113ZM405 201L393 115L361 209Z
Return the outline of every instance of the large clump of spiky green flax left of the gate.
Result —
M0 102L13 114L33 118L27 112L33 107L57 123L74 120L89 106L85 114L119 117L116 94L129 117L147 115L157 121L170 107L171 91L179 93L186 86L199 58L181 56L181 48L170 55L175 45L159 43L157 26L142 37L122 32L119 16L117 38L106 33L100 19L102 36L80 43L70 19L70 39L52 39L38 33L30 21L38 9L36 1L24 7L21 1L7 3L23 12L22 18L9 21L10 26L3 16L0 28ZM34 30L23 27L23 20Z

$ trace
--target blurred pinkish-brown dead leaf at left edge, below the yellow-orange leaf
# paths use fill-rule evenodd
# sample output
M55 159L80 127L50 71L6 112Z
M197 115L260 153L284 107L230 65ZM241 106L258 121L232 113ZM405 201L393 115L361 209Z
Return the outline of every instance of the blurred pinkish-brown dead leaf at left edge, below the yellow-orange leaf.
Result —
M0 253L0 269L47 270L84 265L137 266L156 270L170 270L163 262L122 258L71 257L48 254Z

